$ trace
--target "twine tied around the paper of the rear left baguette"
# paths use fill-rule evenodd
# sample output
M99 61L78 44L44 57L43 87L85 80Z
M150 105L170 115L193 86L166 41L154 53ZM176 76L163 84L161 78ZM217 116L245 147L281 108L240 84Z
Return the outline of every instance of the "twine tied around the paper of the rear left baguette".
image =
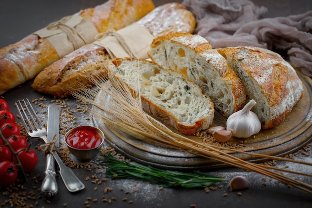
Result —
M79 44L79 40L83 40L84 44L87 44L87 43L85 42L84 38L79 34L79 32L75 28L70 27L67 24L65 24L70 18L71 16L65 16L58 21L50 23L46 28L47 29L59 28L63 30L65 34L67 35L69 41L73 44L74 49L76 50L80 48L81 46L83 46Z

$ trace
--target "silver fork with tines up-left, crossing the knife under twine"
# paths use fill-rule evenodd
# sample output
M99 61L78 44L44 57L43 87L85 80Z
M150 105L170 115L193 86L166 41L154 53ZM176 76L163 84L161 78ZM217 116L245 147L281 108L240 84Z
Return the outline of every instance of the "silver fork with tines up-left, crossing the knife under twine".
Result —
M47 132L40 119L38 118L36 112L31 106L28 99L23 100L24 106L20 101L17 101L16 108L21 117L22 124L25 127L26 132L30 137L41 138L45 143L47 143ZM26 123L27 122L27 123ZM53 151L52 155L59 166L59 173L62 180L69 192L77 192L85 188L84 184L78 179L74 172L67 167L62 159L58 156L57 152Z

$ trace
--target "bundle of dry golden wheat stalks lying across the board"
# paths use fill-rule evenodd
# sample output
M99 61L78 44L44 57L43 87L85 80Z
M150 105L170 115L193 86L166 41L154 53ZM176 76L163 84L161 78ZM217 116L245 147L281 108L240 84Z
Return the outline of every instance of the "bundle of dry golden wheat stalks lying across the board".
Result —
M99 90L108 94L112 98L109 102L106 102L105 100L96 101L97 91L92 89L85 89L79 93L74 93L74 96L81 99L84 103L92 104L100 109L100 111L97 112L98 115L94 116L99 116L103 119L105 125L109 128L115 129L116 131L122 131L147 142L157 142L167 147L178 148L182 151L188 151L192 154L213 159L230 166L256 172L312 194L312 185L288 178L281 173L288 172L309 177L311 177L311 175L247 162L229 153L225 153L222 150L227 150L231 153L248 154L255 157L300 163L309 166L312 166L311 163L290 160L282 157L253 154L237 149L216 147L214 145L206 145L193 141L185 136L172 132L165 125L143 111L140 99L139 79L134 80L136 81L136 85L134 85L135 89L129 89L129 86L124 83L123 80L118 79L110 72L108 72L108 76L109 82L106 82L107 77L95 77L92 78L91 81ZM139 77L139 75L137 77Z

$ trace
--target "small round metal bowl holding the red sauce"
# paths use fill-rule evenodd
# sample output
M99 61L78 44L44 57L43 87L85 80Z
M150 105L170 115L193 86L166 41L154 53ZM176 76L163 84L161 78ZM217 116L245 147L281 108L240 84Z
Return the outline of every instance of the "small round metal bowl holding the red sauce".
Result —
M96 147L90 148L90 149L78 149L75 147L72 147L70 144L68 144L67 142L67 138L71 133L77 133L79 134L79 132L81 132L82 130L88 130L91 131L95 134L98 134L98 136L100 136L101 138L101 143L99 145L97 145ZM97 154L100 152L100 149L103 145L104 142L104 133L96 128L96 127L92 127L92 126L79 126L76 128L73 128L71 130L69 130L64 137L65 143L67 145L67 148L69 149L70 153L75 156L75 158L77 158L80 161L89 161L92 160L95 156L97 156Z

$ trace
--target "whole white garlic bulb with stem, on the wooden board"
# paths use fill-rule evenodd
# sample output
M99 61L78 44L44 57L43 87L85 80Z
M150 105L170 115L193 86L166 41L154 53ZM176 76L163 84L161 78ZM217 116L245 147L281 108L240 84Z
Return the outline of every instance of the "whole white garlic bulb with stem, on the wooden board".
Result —
M248 138L261 130L258 116L250 111L256 105L256 101L250 100L242 110L230 115L226 121L226 129L233 130L233 137Z

